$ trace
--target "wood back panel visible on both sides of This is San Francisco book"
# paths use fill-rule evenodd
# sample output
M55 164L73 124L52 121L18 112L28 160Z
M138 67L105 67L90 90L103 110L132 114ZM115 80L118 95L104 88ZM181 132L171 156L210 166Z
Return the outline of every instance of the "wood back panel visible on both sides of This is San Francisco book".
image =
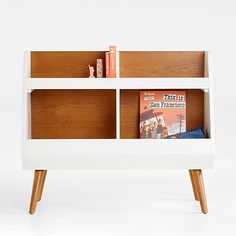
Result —
M120 137L139 138L139 92L120 92ZM200 89L186 90L186 130L204 126L204 92Z

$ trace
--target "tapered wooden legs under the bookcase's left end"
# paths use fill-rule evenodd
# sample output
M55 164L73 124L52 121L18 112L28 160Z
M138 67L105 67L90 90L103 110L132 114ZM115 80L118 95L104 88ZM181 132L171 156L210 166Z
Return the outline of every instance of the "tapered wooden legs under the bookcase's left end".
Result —
M29 209L30 214L35 213L38 200L40 199L43 183L45 181L44 178L46 177L44 173L45 173L45 170L35 170L34 172L34 182L33 182L30 209Z

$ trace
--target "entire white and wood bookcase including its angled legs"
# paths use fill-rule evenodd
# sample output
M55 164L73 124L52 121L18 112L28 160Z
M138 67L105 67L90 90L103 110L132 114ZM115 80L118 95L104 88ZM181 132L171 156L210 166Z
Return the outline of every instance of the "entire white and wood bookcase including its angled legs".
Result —
M212 168L214 149L208 54L117 55L118 76L112 79L88 78L88 65L96 68L97 59L105 69L105 51L32 51L27 57L23 165L35 170L30 213L42 197L47 170L62 168L188 169L194 197L207 213L201 169ZM172 89L186 91L187 131L202 127L206 139L139 139L140 91Z

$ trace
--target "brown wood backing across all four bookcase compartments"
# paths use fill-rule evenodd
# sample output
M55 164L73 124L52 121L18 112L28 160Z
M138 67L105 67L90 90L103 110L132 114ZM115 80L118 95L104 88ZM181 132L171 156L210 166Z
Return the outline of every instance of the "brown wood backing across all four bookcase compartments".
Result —
M84 78L105 52L31 52L31 78ZM120 52L120 78L203 77L204 52ZM139 91L120 90L120 138L139 138ZM204 126L204 92L187 92L187 130ZM35 90L33 139L115 139L115 90Z

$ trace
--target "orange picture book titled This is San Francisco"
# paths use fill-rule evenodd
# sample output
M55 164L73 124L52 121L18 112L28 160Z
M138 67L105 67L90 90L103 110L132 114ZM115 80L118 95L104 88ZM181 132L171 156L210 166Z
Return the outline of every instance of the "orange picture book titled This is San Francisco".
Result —
M161 139L185 131L185 91L140 91L141 139Z

